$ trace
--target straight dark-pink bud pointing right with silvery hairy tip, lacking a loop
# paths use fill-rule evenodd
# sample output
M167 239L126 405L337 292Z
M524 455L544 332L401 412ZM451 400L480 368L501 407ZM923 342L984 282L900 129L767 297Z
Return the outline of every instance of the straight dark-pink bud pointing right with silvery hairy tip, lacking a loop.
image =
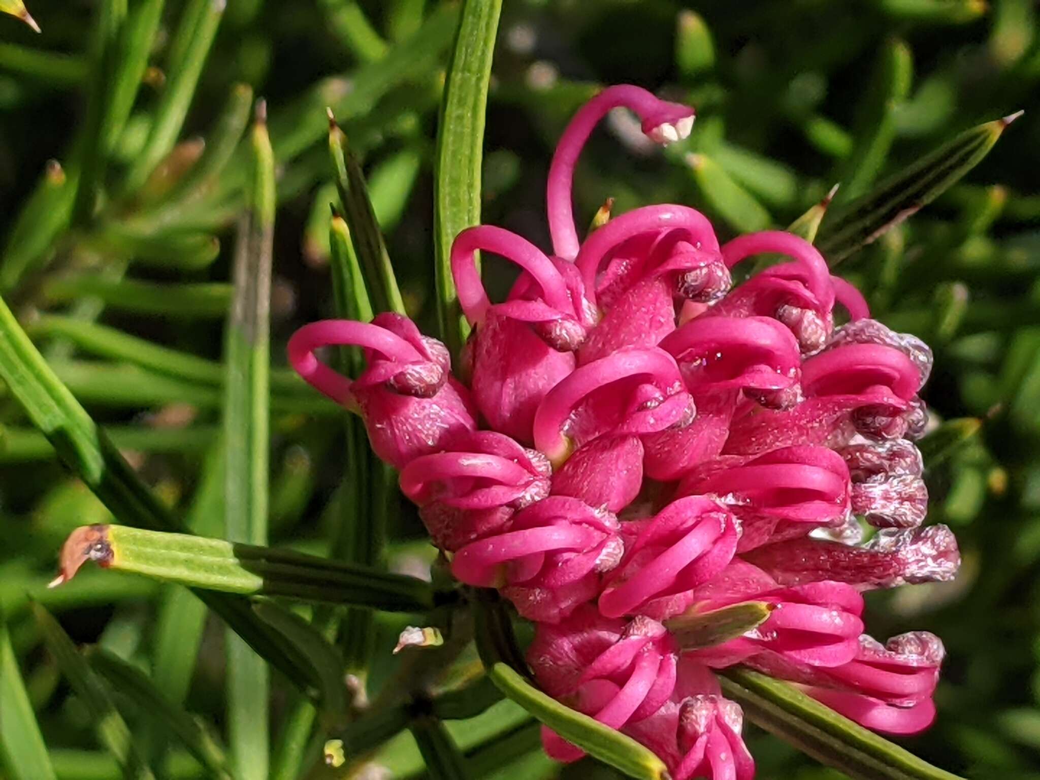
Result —
M742 556L780 584L832 579L860 590L947 581L961 563L957 539L945 525L886 528L863 546L791 539L748 550Z

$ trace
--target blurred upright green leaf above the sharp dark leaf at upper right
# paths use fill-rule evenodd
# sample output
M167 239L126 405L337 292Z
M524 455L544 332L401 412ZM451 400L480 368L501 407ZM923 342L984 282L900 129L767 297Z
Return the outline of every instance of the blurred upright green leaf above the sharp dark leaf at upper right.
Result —
M888 157L895 138L895 114L909 95L913 57L903 41L887 41L878 54L874 75L860 101L853 128L852 152L834 178L841 182L839 199L866 191Z

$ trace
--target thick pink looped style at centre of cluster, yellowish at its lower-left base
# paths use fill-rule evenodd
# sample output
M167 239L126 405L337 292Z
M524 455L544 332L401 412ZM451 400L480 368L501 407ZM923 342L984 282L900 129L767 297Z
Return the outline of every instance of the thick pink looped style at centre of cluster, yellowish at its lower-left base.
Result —
M593 397L597 391L605 397ZM578 444L605 433L655 433L688 422L691 406L679 368L668 353L617 352L576 368L546 394L535 413L535 446L558 466L571 452L572 439L565 430L573 432Z

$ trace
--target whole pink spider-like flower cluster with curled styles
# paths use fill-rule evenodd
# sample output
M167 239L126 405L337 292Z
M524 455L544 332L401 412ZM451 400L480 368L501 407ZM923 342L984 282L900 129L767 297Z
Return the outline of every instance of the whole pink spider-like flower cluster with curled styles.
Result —
M494 227L458 236L472 328L459 380L444 345L395 314L306 326L290 361L361 415L454 576L537 623L527 658L543 688L650 747L676 780L754 775L740 708L713 676L734 664L868 728L920 730L942 644L875 641L861 594L948 579L960 563L947 528L921 527L912 441L931 352L870 319L788 233L720 244L701 213L662 205L579 242L574 166L618 106L657 141L693 124L644 89L605 89L550 167L553 254ZM503 302L478 251L520 268ZM764 254L787 259L734 287L735 266ZM317 357L333 344L362 347L367 368L334 371ZM865 543L859 518L878 529ZM713 645L683 647L670 628L748 602L764 622ZM581 755L548 730L544 742L561 760Z

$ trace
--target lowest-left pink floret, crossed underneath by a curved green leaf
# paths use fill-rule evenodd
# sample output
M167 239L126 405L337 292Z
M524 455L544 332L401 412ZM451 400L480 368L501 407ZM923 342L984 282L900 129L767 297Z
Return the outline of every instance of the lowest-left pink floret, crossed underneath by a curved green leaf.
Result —
M540 624L527 662L543 690L615 729L654 714L675 687L676 648L665 626L612 620L588 605L558 625ZM548 728L542 742L556 760L584 755Z

